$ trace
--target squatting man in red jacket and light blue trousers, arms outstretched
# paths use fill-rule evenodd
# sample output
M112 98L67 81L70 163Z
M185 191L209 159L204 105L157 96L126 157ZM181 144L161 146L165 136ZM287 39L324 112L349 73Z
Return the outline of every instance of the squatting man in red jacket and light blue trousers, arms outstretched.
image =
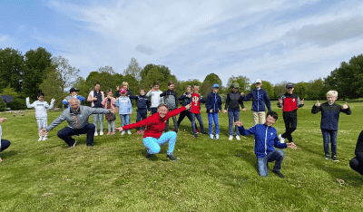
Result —
M166 157L175 161L177 159L172 154L172 151L174 150L176 142L176 132L168 131L162 133L162 131L165 129L166 121L169 120L169 118L176 116L182 111L188 110L190 108L191 104L188 104L186 106L183 106L182 108L169 111L168 107L165 104L160 104L158 107L158 111L155 112L152 116L149 116L148 118L139 122L116 128L116 130L130 130L147 126L143 134L142 140L143 145L146 149L148 149L146 158L150 159L153 154L159 153L161 146L165 143L168 143L169 147L166 153Z

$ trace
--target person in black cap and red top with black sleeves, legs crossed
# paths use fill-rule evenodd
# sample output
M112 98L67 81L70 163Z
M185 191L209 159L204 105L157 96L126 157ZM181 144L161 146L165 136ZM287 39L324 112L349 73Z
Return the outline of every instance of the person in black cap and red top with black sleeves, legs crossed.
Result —
M294 92L294 84L286 85L287 92L283 94L278 102L279 108L282 107L282 116L285 122L286 131L279 135L280 142L288 139L292 142L291 133L298 127L298 108L304 106L304 100L300 101L299 96Z

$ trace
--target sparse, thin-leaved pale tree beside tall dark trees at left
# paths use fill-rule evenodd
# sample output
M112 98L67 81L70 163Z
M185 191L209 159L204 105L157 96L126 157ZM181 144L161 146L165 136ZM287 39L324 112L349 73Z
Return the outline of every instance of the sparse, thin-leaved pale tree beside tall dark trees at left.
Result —
M57 79L62 82L61 88L62 92L64 92L65 88L71 87L78 79L80 70L72 67L72 65L69 64L68 59L63 58L62 56L52 58L52 63L56 67L55 70L58 72Z

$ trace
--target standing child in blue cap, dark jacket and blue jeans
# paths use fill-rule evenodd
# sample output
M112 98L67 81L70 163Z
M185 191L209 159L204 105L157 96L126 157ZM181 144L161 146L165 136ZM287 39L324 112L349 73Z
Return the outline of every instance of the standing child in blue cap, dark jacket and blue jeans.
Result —
M221 96L217 93L220 90L219 84L213 84L213 92L208 94L207 100L205 101L205 107L208 113L208 122L210 130L210 138L213 139L213 120L215 126L215 138L220 139L220 124L218 121L218 113L221 112Z

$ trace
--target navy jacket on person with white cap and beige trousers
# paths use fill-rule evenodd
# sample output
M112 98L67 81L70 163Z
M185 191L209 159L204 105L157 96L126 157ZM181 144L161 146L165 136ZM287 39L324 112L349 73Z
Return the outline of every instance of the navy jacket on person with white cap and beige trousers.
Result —
M243 96L243 101L249 101L250 98L252 98L252 111L266 111L265 104L267 109L271 111L270 99L265 90L253 89L252 92Z

